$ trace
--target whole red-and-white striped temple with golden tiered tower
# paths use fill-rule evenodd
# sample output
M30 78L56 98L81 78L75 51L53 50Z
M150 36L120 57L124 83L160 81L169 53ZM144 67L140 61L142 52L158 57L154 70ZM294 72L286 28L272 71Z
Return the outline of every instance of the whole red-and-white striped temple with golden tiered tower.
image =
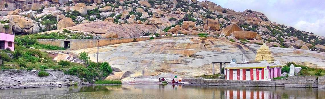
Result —
M225 67L227 80L267 80L281 76L282 64L274 61L271 50L264 43L258 50L255 61L231 62Z

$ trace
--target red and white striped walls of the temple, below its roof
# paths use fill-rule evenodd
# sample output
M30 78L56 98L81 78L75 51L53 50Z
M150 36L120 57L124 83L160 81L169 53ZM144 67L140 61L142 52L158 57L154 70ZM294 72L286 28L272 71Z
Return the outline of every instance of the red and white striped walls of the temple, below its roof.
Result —
M266 80L281 76L281 67L225 69L227 80Z

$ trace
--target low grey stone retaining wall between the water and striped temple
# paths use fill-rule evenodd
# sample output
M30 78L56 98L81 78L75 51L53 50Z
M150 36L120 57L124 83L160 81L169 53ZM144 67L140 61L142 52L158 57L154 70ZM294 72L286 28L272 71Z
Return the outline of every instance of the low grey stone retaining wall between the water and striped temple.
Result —
M182 82L220 86L309 87L325 88L325 76L289 76L288 80L224 80L184 78Z

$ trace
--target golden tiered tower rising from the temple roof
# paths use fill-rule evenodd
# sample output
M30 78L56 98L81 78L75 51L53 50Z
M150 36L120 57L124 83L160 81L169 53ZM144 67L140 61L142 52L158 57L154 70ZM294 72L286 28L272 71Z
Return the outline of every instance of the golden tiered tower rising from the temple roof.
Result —
M257 50L257 54L255 56L255 61L261 62L264 60L266 60L269 63L274 62L274 58L271 53L271 50L265 43Z

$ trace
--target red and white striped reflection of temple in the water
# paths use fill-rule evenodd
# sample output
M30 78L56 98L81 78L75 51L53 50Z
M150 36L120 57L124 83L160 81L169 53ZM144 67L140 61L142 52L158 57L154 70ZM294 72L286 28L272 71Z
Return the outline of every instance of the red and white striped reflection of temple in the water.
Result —
M256 90L225 90L225 99L281 99L281 93Z

